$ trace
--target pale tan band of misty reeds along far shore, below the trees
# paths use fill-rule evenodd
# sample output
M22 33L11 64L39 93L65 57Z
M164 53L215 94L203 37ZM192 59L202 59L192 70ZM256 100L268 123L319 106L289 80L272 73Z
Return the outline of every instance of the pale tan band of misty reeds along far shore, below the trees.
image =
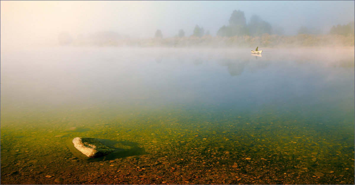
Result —
M114 47L326 47L354 46L355 37L351 35L309 35L295 36L263 34L261 37L234 36L219 37L204 35L203 37L172 38L119 38L119 39L73 39L65 45L72 46L114 46Z

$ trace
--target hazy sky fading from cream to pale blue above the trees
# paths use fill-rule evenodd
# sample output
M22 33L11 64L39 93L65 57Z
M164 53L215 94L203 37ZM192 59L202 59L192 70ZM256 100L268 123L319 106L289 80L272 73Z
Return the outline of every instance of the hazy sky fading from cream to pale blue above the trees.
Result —
M215 35L233 10L253 14L294 35L301 26L328 33L333 25L354 21L355 1L0 1L1 44L56 40L66 31L76 38L113 30L132 38L190 36L203 27Z

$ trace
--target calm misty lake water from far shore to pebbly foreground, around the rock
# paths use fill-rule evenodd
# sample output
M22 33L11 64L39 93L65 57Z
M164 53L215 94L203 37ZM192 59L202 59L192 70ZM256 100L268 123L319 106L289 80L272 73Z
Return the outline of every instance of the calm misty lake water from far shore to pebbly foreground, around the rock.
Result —
M354 184L354 83L353 47L1 49L1 184ZM130 156L174 170L87 181Z

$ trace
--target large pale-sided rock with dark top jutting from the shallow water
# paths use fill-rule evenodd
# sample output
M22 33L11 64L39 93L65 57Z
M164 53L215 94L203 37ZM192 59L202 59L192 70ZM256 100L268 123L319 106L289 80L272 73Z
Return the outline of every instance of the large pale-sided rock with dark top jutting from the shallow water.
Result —
M77 137L73 139L73 144L76 149L91 158L102 157L115 151L114 148L104 145L102 142L95 138Z

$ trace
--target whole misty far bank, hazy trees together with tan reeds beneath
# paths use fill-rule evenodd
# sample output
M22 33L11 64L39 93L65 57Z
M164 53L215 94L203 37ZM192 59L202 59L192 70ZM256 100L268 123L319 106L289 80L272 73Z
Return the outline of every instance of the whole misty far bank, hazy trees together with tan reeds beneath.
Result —
M96 32L88 37L78 35L73 39L69 33L58 35L60 45L97 45L97 46L142 46L142 47L300 47L300 46L354 46L355 22L338 24L323 34L320 29L302 26L297 35L285 36L282 28L273 28L258 15L252 15L247 23L243 11L234 10L229 25L219 28L213 37L198 25L192 35L186 36L183 29L171 38L164 38L157 29L152 38L133 39L115 31Z

